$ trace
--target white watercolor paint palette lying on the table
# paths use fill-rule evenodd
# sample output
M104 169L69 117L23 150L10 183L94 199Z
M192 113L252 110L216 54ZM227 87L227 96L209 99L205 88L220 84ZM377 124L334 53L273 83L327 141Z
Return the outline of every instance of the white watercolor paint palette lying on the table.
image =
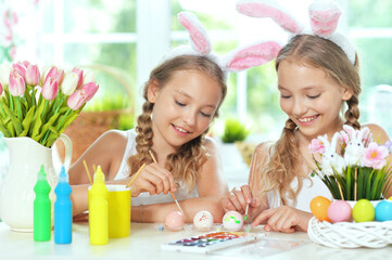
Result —
M163 250L207 253L208 251L256 240L257 235L244 232L212 232L162 244Z

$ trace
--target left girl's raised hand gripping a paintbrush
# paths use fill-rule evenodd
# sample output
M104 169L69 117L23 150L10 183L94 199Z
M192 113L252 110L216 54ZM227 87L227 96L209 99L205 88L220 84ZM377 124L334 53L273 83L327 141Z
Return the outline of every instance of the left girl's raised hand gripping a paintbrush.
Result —
M139 196L142 192L149 192L150 195L169 191L176 192L176 185L172 172L157 164L146 166L131 185L134 197Z

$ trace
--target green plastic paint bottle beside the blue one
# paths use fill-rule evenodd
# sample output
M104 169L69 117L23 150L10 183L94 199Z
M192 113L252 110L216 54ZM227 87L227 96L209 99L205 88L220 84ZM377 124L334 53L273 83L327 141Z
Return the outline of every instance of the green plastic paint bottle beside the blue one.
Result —
M38 172L37 183L34 186L36 193L34 199L34 240L36 242L50 240L52 231L50 190L42 165Z

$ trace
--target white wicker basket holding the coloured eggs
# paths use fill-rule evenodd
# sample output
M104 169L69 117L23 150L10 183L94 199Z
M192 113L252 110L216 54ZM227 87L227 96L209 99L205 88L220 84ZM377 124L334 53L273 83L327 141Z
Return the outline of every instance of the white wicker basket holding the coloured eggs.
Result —
M392 244L392 221L329 223L315 217L309 220L311 240L333 248L381 248Z

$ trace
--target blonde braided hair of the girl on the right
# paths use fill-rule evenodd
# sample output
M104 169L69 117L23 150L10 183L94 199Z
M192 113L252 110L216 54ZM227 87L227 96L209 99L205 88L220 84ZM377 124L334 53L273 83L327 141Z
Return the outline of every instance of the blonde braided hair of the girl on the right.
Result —
M353 95L346 101L345 123L355 129L361 128L358 122L361 79L357 56L353 65L343 50L332 41L313 35L298 35L280 50L276 60L276 70L284 60L320 68L333 82L351 90ZM262 169L262 174L264 174L262 180L265 180L265 183L262 183L262 190L276 188L282 205L288 205L289 199L295 204L303 185L304 173L300 164L301 158L296 156L301 153L295 138L296 129L294 121L289 118L280 139L269 148L269 161ZM298 179L296 190L291 187L294 178Z

